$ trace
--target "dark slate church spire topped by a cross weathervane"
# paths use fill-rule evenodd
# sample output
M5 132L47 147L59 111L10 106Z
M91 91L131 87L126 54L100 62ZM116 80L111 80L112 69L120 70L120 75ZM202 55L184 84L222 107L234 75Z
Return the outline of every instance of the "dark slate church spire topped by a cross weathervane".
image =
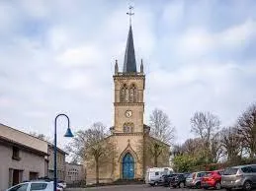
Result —
M133 36L131 30L131 16L134 13L131 13L131 9L133 7L129 7L129 12L127 13L129 16L129 30L128 30L128 42L127 42L127 49L125 54L125 62L123 73L136 73L136 59L135 59L135 52L134 52L134 45L133 45Z

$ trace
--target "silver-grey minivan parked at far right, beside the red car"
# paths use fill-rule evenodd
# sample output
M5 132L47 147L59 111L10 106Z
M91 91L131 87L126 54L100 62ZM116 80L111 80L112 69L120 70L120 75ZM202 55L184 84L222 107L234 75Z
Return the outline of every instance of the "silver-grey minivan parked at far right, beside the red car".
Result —
M238 188L250 191L256 185L256 164L226 168L222 175L221 184L228 191Z

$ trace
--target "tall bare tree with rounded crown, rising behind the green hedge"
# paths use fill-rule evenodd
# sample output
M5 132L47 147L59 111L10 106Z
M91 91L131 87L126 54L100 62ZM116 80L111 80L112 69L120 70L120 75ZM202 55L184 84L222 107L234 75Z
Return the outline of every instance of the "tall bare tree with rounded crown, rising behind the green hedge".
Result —
M220 120L217 116L210 112L196 112L191 118L191 131L199 136L204 143L204 149L207 154L207 160L213 162L216 156L213 156L216 149L220 147L215 147L213 143L217 143L215 138L219 129Z

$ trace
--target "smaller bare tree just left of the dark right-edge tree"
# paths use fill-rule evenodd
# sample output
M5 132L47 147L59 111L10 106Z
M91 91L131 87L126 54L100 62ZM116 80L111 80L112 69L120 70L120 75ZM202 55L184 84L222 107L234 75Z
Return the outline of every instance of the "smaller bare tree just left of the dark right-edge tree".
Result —
M233 161L238 159L241 151L241 139L238 136L237 129L234 127L223 128L220 136L220 144L223 148L223 154L227 156L227 160Z

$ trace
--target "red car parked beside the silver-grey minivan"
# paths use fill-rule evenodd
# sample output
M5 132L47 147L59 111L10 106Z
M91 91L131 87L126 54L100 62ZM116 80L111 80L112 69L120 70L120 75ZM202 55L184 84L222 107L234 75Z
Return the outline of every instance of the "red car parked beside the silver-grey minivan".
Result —
M215 170L209 172L202 178L201 186L205 189L214 188L219 190L221 188L221 171Z

